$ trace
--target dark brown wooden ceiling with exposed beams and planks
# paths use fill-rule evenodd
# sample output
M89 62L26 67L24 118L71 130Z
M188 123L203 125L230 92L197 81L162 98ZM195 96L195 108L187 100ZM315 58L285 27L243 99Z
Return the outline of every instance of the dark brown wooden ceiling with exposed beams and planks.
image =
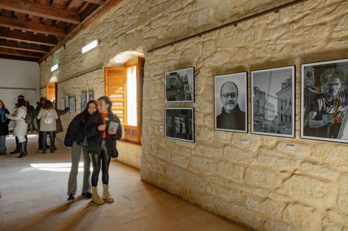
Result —
M0 58L39 61L104 0L0 0Z

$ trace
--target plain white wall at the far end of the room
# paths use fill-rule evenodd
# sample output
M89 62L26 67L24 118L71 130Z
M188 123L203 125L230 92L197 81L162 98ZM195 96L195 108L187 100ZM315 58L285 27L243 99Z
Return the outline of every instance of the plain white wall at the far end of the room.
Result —
M30 105L36 108L39 100L40 66L37 62L20 61L0 58L0 100L12 113L17 96L23 95ZM24 89L3 89L3 88L33 88ZM10 123L10 128L13 122Z

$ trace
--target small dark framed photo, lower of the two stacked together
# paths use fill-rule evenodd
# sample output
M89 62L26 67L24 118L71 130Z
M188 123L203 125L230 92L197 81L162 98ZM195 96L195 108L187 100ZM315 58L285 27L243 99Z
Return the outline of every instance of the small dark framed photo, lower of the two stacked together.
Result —
M166 137L194 143L193 108L165 108Z

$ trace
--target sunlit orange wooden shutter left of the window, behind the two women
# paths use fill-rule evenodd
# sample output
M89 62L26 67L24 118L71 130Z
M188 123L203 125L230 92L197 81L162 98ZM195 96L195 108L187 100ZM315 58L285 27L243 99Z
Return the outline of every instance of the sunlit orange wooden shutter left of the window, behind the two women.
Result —
M126 68L105 67L105 96L112 102L112 112L126 123Z

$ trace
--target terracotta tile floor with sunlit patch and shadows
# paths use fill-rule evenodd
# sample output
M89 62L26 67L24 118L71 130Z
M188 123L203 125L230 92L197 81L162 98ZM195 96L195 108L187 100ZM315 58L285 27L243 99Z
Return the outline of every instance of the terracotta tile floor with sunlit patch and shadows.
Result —
M6 139L7 151L14 138ZM37 137L29 138L29 155L0 156L0 230L25 231L245 231L140 180L140 171L115 160L110 164L110 193L115 202L95 205L78 192L67 202L70 150L41 154ZM82 156L81 156L82 158ZM82 159L81 162L83 163ZM101 174L100 174L101 175ZM101 179L98 184L102 192Z

